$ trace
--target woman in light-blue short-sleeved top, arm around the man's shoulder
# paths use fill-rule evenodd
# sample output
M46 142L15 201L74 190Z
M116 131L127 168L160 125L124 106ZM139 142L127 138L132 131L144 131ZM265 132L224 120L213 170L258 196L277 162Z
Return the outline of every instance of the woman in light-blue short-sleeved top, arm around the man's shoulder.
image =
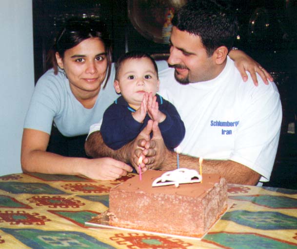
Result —
M57 37L53 68L38 81L25 119L21 145L24 172L112 180L132 171L112 158L86 158L83 150L90 125L98 123L117 98L111 44L103 27L94 20L67 21ZM233 52L238 53L238 61L249 62L252 74L259 70L254 69L257 62ZM241 71L246 76L244 69Z

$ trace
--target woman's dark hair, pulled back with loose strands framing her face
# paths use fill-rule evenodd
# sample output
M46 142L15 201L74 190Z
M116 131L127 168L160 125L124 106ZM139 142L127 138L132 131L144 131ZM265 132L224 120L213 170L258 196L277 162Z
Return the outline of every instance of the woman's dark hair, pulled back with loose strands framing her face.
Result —
M64 27L55 39L55 43L48 54L48 62L54 68L54 73L58 74L58 63L56 52L61 58L67 49L73 48L80 42L89 38L99 38L103 42L107 58L107 76L103 88L105 87L111 72L112 47L111 40L106 31L105 24L95 19L70 19L65 22Z

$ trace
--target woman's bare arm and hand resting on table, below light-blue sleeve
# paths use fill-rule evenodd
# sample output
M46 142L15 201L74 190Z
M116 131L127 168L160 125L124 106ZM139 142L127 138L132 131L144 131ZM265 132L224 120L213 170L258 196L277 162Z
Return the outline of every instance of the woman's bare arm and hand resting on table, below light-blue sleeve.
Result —
M24 172L81 174L97 180L115 180L132 171L131 166L109 157L87 159L47 152L48 141L49 134L24 129L21 146L21 166Z

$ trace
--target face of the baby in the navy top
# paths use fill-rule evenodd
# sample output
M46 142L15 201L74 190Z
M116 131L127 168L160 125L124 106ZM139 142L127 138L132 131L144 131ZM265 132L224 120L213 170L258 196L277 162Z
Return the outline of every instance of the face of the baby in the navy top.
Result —
M139 107L145 92L156 95L159 81L154 64L149 58L128 59L119 70L118 81L115 81L117 93L131 105Z

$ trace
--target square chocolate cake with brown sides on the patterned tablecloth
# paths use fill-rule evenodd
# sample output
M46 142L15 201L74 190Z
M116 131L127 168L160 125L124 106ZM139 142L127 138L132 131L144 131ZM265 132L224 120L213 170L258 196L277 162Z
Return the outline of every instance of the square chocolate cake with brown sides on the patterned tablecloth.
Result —
M203 235L227 208L227 184L217 174L203 183L152 187L164 171L148 170L111 189L110 225L183 236Z

